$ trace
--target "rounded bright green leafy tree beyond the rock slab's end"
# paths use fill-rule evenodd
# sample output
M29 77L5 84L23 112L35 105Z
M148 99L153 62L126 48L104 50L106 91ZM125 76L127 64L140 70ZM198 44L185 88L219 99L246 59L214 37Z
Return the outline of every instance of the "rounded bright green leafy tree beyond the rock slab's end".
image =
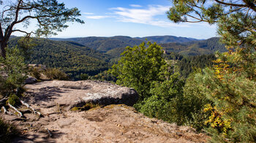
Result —
M127 47L121 59L112 66L110 73L117 77L116 83L135 88L140 101L150 96L151 82L163 80L160 71L165 71L166 62L162 47L151 42Z

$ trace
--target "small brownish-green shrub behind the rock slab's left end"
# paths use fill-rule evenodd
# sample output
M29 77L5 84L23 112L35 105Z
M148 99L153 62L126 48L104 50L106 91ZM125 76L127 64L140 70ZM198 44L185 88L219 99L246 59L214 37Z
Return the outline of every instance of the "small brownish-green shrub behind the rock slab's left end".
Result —
M45 75L50 80L69 80L69 77L67 77L67 74L65 74L64 71L56 68L46 69Z

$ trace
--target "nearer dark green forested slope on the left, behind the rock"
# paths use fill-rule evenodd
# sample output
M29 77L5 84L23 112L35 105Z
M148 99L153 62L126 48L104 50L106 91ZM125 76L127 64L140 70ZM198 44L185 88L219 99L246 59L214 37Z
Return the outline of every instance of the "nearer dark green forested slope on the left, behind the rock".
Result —
M16 45L19 37L10 40L10 47ZM28 63L44 64L61 68L72 77L81 73L90 75L108 69L110 56L75 42L60 42L50 39L33 39L36 46L30 51Z

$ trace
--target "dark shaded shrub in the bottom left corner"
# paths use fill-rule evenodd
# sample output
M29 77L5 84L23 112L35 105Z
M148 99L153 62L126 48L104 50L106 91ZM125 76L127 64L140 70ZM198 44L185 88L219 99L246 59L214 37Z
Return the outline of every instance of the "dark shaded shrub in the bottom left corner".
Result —
M0 117L0 142L10 142L13 136L18 135L18 130L15 125L5 122Z

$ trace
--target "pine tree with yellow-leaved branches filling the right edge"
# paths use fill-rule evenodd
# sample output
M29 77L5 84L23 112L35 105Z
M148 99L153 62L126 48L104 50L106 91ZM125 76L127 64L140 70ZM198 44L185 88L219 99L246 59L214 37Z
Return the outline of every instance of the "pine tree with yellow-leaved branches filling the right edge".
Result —
M212 142L256 142L256 1L174 0L167 14L176 23L217 23L228 46L213 68L194 78L213 102L205 109Z

